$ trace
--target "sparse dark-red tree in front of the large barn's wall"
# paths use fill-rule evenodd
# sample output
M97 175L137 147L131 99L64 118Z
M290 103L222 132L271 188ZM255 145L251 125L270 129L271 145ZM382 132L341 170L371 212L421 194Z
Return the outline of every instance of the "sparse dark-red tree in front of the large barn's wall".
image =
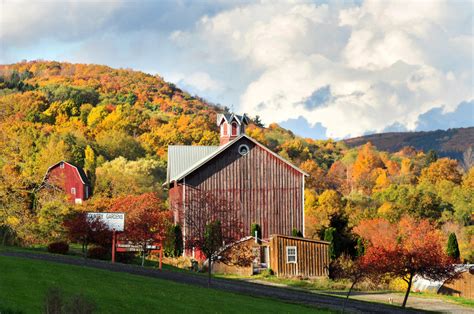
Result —
M193 191L184 224L187 249L204 254L208 265L208 282L211 282L212 263L218 258L220 249L227 243L240 240L245 234L239 214L228 201L214 193ZM219 242L219 243L218 243Z

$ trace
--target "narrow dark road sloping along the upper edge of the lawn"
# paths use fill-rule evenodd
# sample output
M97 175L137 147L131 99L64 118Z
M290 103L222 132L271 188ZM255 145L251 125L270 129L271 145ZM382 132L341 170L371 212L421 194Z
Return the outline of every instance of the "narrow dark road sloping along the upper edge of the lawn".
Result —
M50 255L33 252L0 252L0 256L13 256L29 258L35 260L44 260L62 264L87 266L98 269L104 269L115 272L125 272L140 276L172 280L179 283L191 284L201 287L207 286L205 276L195 275L187 272L175 272L167 270L157 270L142 268L136 265L111 264L110 262L98 260L86 260L81 258L72 258L68 256ZM310 306L329 308L333 310L342 310L342 299L317 293L298 291L294 289L263 285L259 283L245 282L240 280L213 279L213 289L224 290L228 292L246 294L250 296L270 297L285 302L301 303ZM433 309L434 310L434 309ZM346 311L350 313L416 313L416 310L402 310L384 304L369 303L360 300L349 300ZM458 312L459 313L459 312ZM466 312L467 313L467 312Z

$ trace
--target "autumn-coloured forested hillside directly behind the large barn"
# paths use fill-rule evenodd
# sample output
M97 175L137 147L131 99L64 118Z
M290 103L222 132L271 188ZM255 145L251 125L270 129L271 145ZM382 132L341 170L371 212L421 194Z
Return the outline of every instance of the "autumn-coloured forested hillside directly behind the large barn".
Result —
M218 145L215 120L222 111L142 72L46 61L0 66L0 241L2 234L29 244L64 239L63 222L75 211L108 211L151 194L166 208L168 145ZM352 230L367 219L397 223L411 216L429 219L446 235L456 231L469 261L474 168L402 146L456 151L466 137L472 141L472 131L389 134L390 141L380 143L374 135L349 140L363 144L351 148L344 141L303 139L277 124L263 127L258 119L246 129L310 174L306 236L335 230L337 254L351 254ZM66 202L61 191L39 189L48 167L60 160L83 167L91 180L92 198L83 206Z

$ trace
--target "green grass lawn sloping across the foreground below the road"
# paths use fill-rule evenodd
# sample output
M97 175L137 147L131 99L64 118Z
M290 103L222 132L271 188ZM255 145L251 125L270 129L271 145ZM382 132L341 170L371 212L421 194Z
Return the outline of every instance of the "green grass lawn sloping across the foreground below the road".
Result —
M100 313L331 313L166 280L0 256L0 313L42 312L51 287L66 295L83 294Z

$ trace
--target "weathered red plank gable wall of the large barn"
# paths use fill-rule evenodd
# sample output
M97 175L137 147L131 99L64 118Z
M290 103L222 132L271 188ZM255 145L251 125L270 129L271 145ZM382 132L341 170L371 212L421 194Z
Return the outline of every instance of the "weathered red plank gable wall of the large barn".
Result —
M245 156L238 147L246 144ZM303 230L303 174L252 141L242 138L185 180L186 212L192 210L192 190L213 192L230 202L240 216L244 232L252 223L262 227L262 236L291 235Z

